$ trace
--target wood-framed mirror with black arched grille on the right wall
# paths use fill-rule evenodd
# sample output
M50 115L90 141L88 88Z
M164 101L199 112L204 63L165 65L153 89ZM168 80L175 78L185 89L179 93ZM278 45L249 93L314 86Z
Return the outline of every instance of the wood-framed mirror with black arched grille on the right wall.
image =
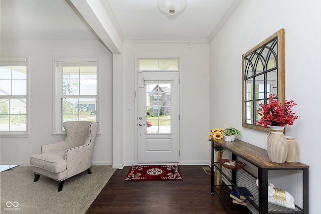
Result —
M242 55L242 126L269 131L257 125L257 110L269 103L269 95L284 104L284 29Z

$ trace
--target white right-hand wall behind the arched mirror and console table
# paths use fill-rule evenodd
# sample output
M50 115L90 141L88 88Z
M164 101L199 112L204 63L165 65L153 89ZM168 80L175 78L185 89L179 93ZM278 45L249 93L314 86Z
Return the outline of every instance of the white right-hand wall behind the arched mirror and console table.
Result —
M244 0L210 43L210 126L233 126L243 141L266 149L267 133L242 128L242 54L285 29L285 99L294 100L300 117L286 127L295 137L300 162L309 168L309 213L321 210L321 3L319 0ZM228 80L228 81L227 81ZM219 95L219 98L218 98ZM219 112L219 113L218 113ZM284 188L302 206L301 173L269 173L269 182Z

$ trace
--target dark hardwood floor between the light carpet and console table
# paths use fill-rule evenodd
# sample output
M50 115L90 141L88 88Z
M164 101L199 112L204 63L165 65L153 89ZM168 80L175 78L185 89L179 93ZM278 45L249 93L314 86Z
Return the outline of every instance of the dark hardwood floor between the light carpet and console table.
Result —
M180 166L183 181L124 181L129 168L115 171L86 213L229 213L202 166Z

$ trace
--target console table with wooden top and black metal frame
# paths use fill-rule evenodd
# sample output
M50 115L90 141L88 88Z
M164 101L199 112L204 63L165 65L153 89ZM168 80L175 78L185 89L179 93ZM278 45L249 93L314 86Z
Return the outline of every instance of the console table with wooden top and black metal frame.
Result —
M243 158L250 164L258 168L258 182L256 186L256 177L248 173L244 169L231 170L224 166L220 167L220 163L214 162L214 143L222 146L226 150L232 152L232 159L236 160L236 156ZM308 165L303 163L274 163L271 162L267 155L267 150L244 141L235 139L233 142L225 142L224 139L211 139L212 159L211 159L211 194L214 192L220 197L230 213L308 213ZM231 183L226 185L214 185L214 168L221 172L223 176ZM221 169L222 170L221 170ZM283 206L268 203L267 185L269 170L301 170L303 174L303 207L295 205L295 209L288 209ZM231 189L238 189L238 186L247 187L254 198L251 200L247 197L247 205L239 205L232 203L229 196ZM277 186L278 187L278 186ZM281 188L281 187L278 187ZM238 189L239 190L239 189ZM295 201L295 200L294 200Z

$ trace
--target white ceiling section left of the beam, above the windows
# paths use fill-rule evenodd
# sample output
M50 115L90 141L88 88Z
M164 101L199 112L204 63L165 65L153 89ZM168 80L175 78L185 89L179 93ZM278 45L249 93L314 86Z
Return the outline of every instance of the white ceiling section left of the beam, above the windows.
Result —
M1 0L1 39L97 40L77 13L68 0Z

